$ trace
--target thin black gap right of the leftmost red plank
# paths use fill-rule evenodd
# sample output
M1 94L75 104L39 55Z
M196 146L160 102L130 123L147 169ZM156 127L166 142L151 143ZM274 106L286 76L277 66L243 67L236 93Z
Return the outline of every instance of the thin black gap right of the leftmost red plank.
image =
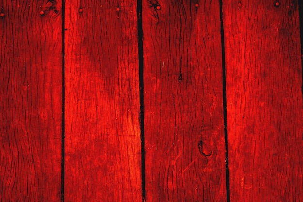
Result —
M61 202L64 202L65 171L65 0L62 0L62 144L61 144Z

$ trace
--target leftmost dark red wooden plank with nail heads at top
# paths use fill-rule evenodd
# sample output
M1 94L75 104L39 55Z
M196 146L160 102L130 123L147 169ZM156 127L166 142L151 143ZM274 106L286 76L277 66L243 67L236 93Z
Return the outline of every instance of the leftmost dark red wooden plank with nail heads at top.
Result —
M59 202L61 2L0 5L0 201Z

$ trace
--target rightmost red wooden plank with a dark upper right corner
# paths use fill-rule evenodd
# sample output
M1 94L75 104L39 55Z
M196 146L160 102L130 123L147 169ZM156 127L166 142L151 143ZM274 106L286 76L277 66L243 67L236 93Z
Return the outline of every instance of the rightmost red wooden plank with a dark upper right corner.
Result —
M297 2L223 0L231 202L302 202Z

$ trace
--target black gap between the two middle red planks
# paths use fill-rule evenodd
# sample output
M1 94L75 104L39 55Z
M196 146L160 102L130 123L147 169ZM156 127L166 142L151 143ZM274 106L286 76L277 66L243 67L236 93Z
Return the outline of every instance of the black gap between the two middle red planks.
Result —
M145 148L144 148L144 82L143 82L142 0L137 0L137 19L138 19L138 49L139 49L139 88L140 88L142 202L145 202Z

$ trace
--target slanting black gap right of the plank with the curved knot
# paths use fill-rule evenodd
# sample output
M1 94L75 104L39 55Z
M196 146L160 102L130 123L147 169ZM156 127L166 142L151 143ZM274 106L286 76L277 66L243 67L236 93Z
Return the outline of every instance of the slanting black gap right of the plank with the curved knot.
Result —
M220 20L221 20L221 46L222 46L222 80L223 80L223 116L224 116L224 139L225 139L225 174L226 174L226 197L230 202L229 186L229 164L228 164L228 138L227 138L227 104L226 104L226 69L225 69L225 48L224 48L224 29L223 29L223 10L222 0L220 1Z

